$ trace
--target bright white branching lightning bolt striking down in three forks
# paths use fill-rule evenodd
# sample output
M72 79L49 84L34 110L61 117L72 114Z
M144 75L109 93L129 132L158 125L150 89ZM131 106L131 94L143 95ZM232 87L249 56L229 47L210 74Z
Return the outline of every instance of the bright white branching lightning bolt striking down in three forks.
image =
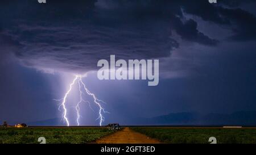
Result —
M65 93L64 95L64 98L63 99L55 99L57 101L60 101L62 100L62 103L60 104L60 107L63 107L63 120L64 122L67 124L67 126L69 126L69 119L67 117L67 97L69 95L69 93L71 93L72 89L73 89L73 86L75 85L75 83L78 83L79 85L79 102L76 104L76 113L77 113L77 118L76 118L76 122L77 122L77 125L80 125L80 122L79 122L79 119L81 118L81 115L80 115L80 104L81 103L88 103L89 104L89 107L92 109L92 107L90 106L90 102L84 100L82 98L82 95L84 94L83 92L85 92L86 94L90 95L91 97L93 97L93 102L96 104L96 106L99 108L99 111L98 111L98 118L97 119L100 119L100 126L102 125L102 122L104 122L105 118L104 118L104 113L109 113L108 111L105 111L105 109L101 106L101 103L105 103L104 101L100 100L100 99L97 99L96 98L96 95L94 95L93 93L90 93L90 91L86 88L85 86L85 83L82 82L82 77L81 76L76 76L72 83L69 85L69 89L68 91ZM59 107L59 110L60 110L60 107ZM92 109L93 110L93 109ZM97 120L96 119L96 120Z

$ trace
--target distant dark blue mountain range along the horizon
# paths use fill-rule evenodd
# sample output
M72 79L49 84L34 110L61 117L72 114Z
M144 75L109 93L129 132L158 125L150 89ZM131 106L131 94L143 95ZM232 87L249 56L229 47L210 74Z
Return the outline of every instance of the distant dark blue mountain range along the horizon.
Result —
M27 123L28 125L65 125L59 118ZM134 118L119 122L121 125L256 125L256 111L238 111L232 114L199 114L196 112L178 112L153 118Z

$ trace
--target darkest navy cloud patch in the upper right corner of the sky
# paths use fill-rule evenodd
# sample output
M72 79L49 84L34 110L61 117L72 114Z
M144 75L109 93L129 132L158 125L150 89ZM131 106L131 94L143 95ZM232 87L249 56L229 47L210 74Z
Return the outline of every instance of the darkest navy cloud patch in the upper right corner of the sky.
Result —
M185 5L188 14L200 16L203 20L221 24L230 28L233 34L229 39L236 41L256 40L256 18L249 11L239 8L250 3L256 7L255 1L220 1L224 6L214 6L209 3L193 3ZM226 7L228 6L228 7Z

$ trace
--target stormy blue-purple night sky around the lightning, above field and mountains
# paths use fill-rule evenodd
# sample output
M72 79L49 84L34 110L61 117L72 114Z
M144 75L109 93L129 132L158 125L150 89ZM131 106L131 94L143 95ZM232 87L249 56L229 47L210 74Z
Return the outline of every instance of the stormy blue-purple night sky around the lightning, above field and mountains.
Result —
M255 7L253 0L3 0L0 122L61 119L53 99L63 98L75 74L86 74L88 89L106 102L104 124L256 111ZM159 59L159 85L100 81L97 62L110 55ZM77 90L68 98L73 125L76 103ZM98 124L92 109L82 104L81 124Z

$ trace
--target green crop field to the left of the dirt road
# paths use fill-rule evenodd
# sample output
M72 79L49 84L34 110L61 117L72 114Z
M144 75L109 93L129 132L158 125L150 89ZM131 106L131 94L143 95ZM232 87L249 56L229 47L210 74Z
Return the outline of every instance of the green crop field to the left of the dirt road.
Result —
M28 127L3 128L0 127L0 144L39 143L39 137L45 137L46 143L90 143L102 136L109 135L104 127Z

